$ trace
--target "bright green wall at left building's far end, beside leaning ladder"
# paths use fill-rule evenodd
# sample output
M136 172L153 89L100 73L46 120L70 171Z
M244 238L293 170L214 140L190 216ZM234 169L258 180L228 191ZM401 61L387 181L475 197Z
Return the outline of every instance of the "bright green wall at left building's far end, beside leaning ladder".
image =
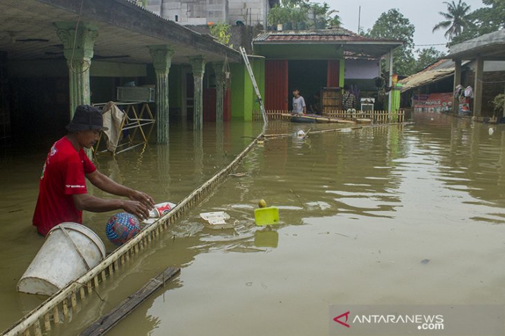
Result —
M232 72L232 119L252 120L254 106L254 88L250 82L246 66L242 63L231 63Z

